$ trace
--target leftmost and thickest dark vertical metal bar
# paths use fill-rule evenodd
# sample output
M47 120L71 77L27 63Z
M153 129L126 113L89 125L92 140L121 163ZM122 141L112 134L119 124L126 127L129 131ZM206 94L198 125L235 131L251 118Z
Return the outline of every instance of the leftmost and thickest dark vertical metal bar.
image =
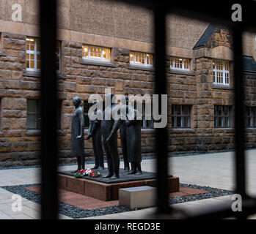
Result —
M41 42L41 218L58 218L57 191L57 92L56 92L56 0L40 1Z

